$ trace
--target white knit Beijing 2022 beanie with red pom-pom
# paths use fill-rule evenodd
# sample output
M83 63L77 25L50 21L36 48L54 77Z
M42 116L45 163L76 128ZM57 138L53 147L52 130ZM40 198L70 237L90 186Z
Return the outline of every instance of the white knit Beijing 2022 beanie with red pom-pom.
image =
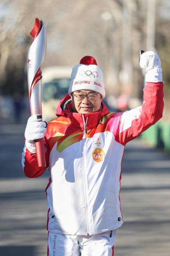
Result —
M72 69L68 93L71 95L73 91L77 90L97 91L102 98L105 97L103 72L97 66L95 58L91 56L83 57L80 64Z

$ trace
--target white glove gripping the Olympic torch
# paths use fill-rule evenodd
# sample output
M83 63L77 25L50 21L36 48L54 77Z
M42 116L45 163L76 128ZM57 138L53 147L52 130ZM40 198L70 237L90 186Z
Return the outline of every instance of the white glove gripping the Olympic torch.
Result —
M40 117L40 115L30 116L25 130L25 144L28 150L32 153L36 153L34 140L43 138L45 136L45 132L47 131L46 127L48 124L41 121L42 118L38 117Z

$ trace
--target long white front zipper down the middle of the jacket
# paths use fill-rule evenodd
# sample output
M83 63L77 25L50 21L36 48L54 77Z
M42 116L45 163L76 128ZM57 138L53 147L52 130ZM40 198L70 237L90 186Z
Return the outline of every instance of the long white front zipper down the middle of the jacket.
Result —
M83 123L84 123L84 129L83 129L83 139L85 139L85 133L87 133L87 120L88 120L88 117L86 118L86 122L84 120L84 115L82 114L82 117L83 117ZM83 141L82 141L82 144L83 144ZM88 227L89 227L89 224L88 224L88 211L87 211L87 194L86 194L86 179L85 179L85 169L86 169L86 161L85 161L85 158L84 158L84 148L83 148L83 145L82 145L82 151L83 151L83 155L82 155L82 175L83 175L83 190L84 190L84 202L85 202L85 214L86 214L86 227L87 227L87 235L89 235L88 233Z

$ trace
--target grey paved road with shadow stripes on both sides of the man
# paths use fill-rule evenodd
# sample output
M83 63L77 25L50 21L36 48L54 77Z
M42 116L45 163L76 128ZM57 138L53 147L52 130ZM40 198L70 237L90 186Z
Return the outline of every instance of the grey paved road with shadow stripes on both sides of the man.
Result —
M24 177L26 125L0 126L0 255L46 256L48 172ZM136 139L122 162L121 208L115 256L170 255L170 156Z

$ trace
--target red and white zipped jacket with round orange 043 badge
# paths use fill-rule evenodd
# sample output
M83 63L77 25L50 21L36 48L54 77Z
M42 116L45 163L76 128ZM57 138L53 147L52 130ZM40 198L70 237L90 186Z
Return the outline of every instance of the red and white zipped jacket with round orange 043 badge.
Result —
M121 161L124 146L155 124L163 114L163 82L147 83L142 106L110 113L104 103L96 113L72 113L58 106L45 135L45 168L24 147L22 165L35 178L49 167L46 188L47 229L58 234L92 235L119 228ZM71 104L71 103L70 103ZM86 129L85 129L86 128Z

